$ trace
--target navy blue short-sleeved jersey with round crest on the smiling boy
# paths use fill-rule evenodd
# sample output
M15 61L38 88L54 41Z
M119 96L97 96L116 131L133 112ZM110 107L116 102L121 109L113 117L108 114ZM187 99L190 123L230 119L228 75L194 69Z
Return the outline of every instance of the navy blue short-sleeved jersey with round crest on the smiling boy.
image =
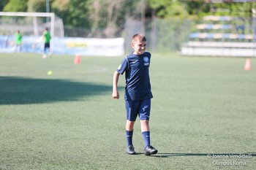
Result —
M149 65L151 53L142 55L129 54L121 61L116 70L119 74L125 72L125 95L127 101L140 101L153 98L149 80Z

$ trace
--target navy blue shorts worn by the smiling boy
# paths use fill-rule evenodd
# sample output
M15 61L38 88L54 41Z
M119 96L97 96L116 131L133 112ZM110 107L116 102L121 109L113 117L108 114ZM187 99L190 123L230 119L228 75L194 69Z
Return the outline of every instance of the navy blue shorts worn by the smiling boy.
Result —
M149 120L151 99L143 101L125 101L125 107L127 109L127 120L135 121L136 117L140 117L140 120Z

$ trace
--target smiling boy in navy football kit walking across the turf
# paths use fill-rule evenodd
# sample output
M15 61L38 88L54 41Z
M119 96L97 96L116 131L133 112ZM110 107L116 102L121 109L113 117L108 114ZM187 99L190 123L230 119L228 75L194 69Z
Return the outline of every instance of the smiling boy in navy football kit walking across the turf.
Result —
M145 155L153 155L157 153L157 149L150 144L149 116L151 109L151 84L149 80L149 64L151 53L146 50L146 37L143 34L135 34L132 36L132 48L134 52L127 55L121 61L121 65L113 74L113 94L112 97L118 99L118 78L120 74L124 74L126 79L125 87L125 106L127 109L127 153L136 154L132 144L133 128L136 117L140 118L141 131L145 144Z

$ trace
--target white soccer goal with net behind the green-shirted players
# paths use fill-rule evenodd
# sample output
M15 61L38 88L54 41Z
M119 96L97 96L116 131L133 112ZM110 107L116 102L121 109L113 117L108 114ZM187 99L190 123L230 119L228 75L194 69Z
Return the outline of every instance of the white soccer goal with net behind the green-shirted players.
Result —
M54 13L0 12L0 53L42 53L45 28L50 31L51 37L64 37L63 22ZM16 31L22 34L21 45L15 45Z

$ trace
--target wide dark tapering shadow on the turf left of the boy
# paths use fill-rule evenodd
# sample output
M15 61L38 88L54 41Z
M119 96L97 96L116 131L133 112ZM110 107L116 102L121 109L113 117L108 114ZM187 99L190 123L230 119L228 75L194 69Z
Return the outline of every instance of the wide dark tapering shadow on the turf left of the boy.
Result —
M90 82L0 77L0 105L78 101L82 97L95 96L111 90L109 85Z

